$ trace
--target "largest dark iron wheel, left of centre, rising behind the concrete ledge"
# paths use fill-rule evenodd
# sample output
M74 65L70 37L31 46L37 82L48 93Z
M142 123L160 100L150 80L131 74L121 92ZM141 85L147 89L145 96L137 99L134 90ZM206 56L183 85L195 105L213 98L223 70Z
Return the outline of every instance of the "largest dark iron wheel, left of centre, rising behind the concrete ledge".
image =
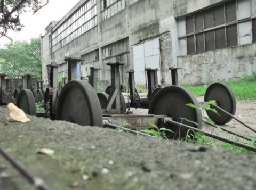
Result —
M83 126L103 126L99 98L93 87L83 80L71 80L61 90L57 120Z

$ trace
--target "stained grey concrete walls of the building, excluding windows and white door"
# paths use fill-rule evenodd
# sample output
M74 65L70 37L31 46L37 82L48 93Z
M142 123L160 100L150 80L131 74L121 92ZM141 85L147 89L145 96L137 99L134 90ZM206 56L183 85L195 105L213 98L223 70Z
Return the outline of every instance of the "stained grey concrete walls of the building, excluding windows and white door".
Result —
M118 40L128 39L129 51L127 53L129 59L127 59L124 67L126 83L126 71L134 67L132 46L159 38L161 82L164 85L172 84L169 67L181 68L178 70L178 78L181 83L198 84L240 78L242 75L250 74L252 70L256 69L254 62L255 44L179 56L176 19L223 2L226 1L139 0L107 20L101 20L100 11L98 10L98 26L54 52L53 61L61 64L64 62L65 56L80 57L99 49L97 67L99 65L103 69L100 71L102 77L100 80L110 80L109 69L102 60L102 49ZM256 15L255 1L252 1L251 5L252 14ZM71 11L74 10L73 8ZM70 14L69 12L65 18ZM49 37L47 35L42 39L44 52L42 67L45 63L50 63ZM113 57L111 60L118 60L118 57Z

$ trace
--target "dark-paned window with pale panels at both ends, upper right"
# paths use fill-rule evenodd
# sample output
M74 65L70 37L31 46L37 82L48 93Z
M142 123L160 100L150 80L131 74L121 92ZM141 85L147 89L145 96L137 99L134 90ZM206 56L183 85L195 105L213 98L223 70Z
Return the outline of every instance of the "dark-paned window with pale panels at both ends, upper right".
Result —
M180 55L256 42L256 19L251 18L250 3L229 1L179 19Z

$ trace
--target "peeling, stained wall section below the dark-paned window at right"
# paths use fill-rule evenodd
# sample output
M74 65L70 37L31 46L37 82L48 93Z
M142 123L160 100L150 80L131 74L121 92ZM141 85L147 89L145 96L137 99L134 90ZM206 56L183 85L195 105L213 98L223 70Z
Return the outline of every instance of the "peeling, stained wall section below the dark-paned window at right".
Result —
M179 57L179 80L200 84L250 75L256 70L255 48L256 44L250 44Z

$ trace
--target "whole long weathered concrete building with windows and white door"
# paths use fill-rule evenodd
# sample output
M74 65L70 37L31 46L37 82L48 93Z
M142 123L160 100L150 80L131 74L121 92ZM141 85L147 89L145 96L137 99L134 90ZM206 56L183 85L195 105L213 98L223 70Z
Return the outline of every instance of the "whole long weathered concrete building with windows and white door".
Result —
M180 83L237 80L256 71L256 1L254 0L81 0L42 37L42 77L46 65L59 64L67 76L65 57L82 57L81 76L101 68L108 84L108 62L135 70L145 84L144 68L158 68L158 80L171 85L170 67Z

